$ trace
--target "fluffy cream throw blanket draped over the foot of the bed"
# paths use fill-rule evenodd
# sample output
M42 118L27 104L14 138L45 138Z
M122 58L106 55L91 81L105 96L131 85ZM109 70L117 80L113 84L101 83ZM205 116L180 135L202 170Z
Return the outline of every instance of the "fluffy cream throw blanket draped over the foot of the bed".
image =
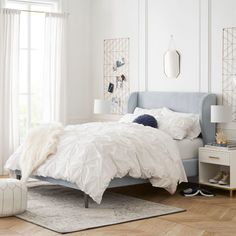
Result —
M51 124L32 129L22 145L20 155L20 169L22 172L21 181L25 182L29 176L40 166L46 159L55 154L59 134L63 131L61 125Z

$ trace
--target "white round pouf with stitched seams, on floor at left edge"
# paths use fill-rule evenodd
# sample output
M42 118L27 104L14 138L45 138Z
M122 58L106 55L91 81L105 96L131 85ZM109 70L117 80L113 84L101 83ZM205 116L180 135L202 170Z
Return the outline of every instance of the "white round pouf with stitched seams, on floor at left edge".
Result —
M21 214L26 207L26 185L17 179L0 179L0 217Z

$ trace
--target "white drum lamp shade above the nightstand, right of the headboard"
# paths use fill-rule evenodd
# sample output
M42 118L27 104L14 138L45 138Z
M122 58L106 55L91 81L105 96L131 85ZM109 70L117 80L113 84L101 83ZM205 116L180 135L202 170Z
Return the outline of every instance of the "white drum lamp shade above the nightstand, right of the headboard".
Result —
M230 106L212 105L211 122L227 123L232 121L232 109Z

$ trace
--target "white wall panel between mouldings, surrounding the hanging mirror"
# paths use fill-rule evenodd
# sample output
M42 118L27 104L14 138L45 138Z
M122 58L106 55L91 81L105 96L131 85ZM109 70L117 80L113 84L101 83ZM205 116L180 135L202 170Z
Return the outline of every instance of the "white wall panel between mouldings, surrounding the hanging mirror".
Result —
M199 0L148 1L148 90L199 91ZM170 35L181 55L181 73L166 78L163 55Z

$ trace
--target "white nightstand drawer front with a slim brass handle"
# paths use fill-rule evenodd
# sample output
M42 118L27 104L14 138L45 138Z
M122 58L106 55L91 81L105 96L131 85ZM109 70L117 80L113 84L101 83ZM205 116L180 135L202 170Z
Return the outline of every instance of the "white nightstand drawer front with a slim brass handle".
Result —
M202 151L199 152L199 161L205 163L211 163L216 165L229 166L229 153L217 152L217 151Z

